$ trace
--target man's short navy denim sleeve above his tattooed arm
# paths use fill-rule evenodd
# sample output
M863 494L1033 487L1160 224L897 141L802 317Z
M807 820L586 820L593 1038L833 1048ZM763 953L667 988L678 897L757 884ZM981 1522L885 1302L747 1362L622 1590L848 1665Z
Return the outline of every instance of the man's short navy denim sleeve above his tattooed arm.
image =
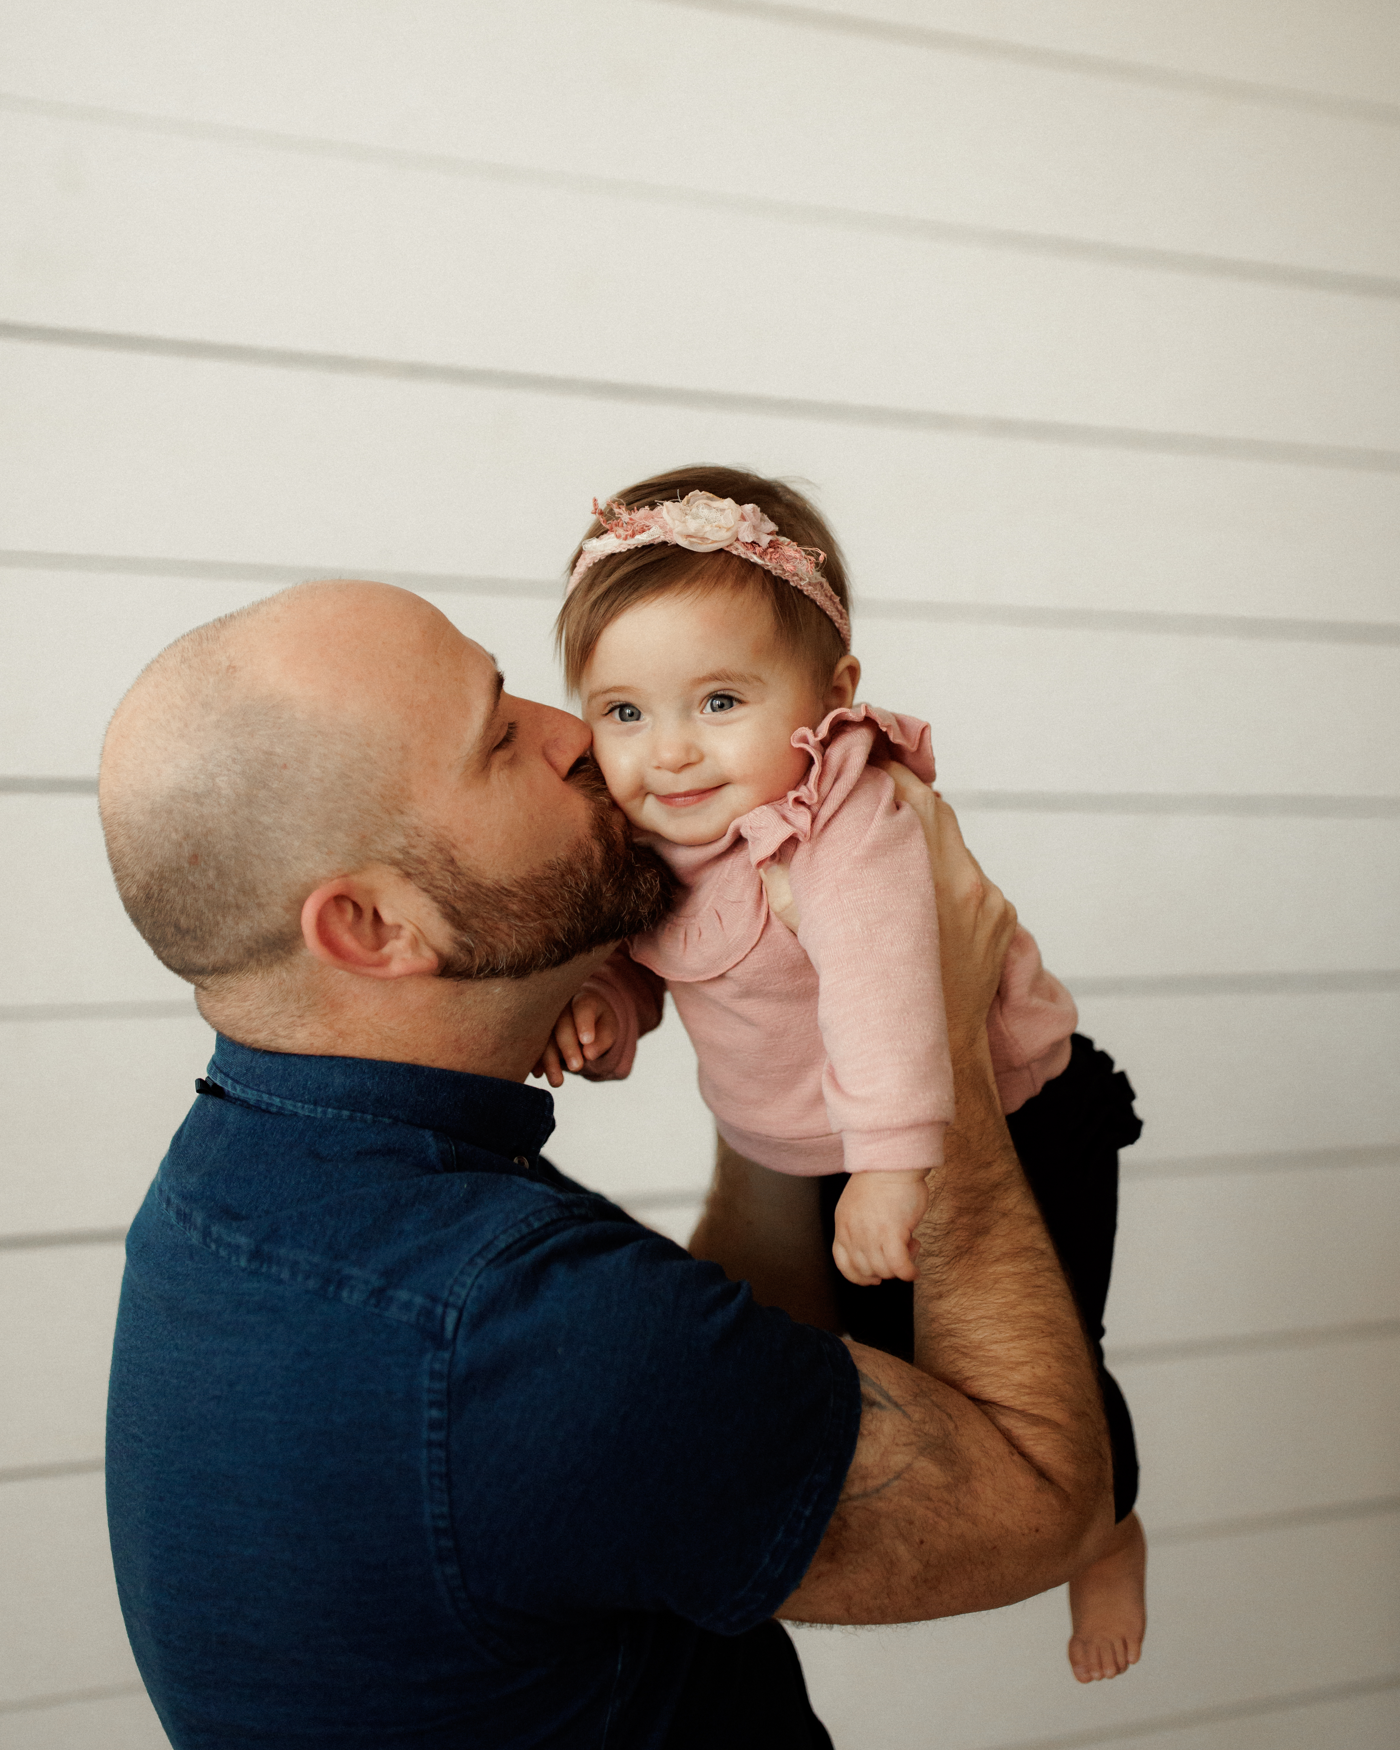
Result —
M485 1272L452 1390L483 1614L670 1612L721 1634L796 1589L859 1432L845 1346L593 1200Z

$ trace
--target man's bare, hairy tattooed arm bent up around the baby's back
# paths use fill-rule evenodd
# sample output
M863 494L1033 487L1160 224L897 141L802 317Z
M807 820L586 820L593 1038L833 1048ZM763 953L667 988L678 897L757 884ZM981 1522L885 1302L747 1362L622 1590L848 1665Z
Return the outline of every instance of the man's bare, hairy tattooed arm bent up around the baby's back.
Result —
M800 1622L1008 1605L1066 1580L1113 1522L1088 1346L987 1048L1015 912L947 803L894 777L929 835L957 1116L919 1230L915 1365L850 1344L861 1433L826 1536L779 1612Z

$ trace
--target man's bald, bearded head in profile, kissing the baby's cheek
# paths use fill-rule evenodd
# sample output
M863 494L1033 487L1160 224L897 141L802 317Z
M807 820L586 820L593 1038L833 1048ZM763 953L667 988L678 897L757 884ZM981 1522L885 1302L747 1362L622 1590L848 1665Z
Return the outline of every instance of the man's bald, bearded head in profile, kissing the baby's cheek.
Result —
M159 959L264 1013L306 998L264 975L329 952L310 901L320 915L327 884L373 868L429 901L441 976L528 978L667 905L588 742L506 695L422 597L299 584L178 639L126 695L102 758L107 852Z

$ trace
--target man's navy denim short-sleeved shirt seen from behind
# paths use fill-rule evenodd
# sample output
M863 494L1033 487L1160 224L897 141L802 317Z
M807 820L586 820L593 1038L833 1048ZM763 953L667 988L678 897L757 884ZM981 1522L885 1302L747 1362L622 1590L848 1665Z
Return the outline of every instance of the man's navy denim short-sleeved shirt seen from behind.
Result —
M822 1741L768 1619L854 1451L845 1348L551 1167L542 1090L219 1040L201 1092L107 1447L177 1750L747 1743L752 1696Z

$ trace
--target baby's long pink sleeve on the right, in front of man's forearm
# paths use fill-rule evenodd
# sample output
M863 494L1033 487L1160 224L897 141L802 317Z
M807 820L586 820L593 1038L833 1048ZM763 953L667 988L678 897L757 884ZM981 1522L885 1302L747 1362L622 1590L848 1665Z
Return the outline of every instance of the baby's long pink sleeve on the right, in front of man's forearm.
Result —
M943 1160L954 1115L938 906L924 830L866 766L789 863L798 942L817 971L822 1097L845 1171Z

